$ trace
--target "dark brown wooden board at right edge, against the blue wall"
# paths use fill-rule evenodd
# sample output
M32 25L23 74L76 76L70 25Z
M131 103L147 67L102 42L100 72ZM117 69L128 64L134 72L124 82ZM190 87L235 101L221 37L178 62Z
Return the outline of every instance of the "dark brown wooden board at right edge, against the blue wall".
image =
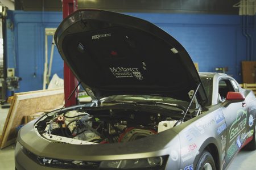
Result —
M256 61L242 61L243 83L256 83Z

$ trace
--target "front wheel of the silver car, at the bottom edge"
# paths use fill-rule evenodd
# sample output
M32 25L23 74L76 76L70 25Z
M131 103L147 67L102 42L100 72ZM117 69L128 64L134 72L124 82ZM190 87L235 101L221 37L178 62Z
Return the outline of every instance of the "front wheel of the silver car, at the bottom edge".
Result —
M203 151L203 154L196 165L196 170L216 170L214 159L210 152Z

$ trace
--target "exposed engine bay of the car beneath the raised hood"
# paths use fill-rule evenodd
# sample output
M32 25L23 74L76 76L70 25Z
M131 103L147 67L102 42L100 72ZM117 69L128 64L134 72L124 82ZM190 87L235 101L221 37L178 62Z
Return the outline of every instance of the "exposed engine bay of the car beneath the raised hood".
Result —
M172 117L135 109L71 109L48 113L35 124L51 142L91 145L135 141L181 123Z

